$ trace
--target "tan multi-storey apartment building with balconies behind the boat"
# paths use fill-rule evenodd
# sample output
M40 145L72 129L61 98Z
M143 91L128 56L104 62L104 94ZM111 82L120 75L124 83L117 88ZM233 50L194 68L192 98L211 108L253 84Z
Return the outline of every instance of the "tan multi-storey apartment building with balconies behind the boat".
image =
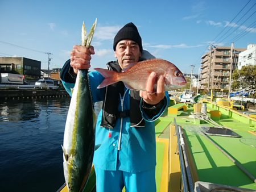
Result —
M234 48L231 58L231 47L214 47L201 57L200 90L229 90L230 66L233 72L238 63L238 54L245 48Z

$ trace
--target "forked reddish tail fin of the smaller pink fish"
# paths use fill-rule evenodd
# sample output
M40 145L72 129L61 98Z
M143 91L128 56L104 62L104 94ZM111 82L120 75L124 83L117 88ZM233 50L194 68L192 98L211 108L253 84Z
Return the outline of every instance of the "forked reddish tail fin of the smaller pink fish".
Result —
M97 89L106 87L108 85L114 84L118 82L118 73L114 72L113 70L108 69L101 69L101 68L95 68L97 72L100 72L105 79L101 82L101 84L97 87Z

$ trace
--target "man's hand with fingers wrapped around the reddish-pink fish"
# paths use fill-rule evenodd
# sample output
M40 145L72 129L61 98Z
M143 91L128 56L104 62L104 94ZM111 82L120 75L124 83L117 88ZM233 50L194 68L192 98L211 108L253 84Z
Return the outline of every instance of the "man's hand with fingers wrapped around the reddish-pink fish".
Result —
M156 105L164 98L164 77L159 76L156 92L154 92L154 84L156 81L156 73L152 72L147 80L146 91L139 91L139 96L141 96L144 102L150 105Z

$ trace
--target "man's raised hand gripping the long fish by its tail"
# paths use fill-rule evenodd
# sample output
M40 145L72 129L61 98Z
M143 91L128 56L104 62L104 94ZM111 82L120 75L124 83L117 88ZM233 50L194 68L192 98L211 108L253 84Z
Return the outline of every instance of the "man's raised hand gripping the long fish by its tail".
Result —
M89 69L90 60L92 59L91 55L94 54L95 52L93 46L86 48L82 45L74 45L70 54L70 65L72 66L74 72L77 73L79 69Z

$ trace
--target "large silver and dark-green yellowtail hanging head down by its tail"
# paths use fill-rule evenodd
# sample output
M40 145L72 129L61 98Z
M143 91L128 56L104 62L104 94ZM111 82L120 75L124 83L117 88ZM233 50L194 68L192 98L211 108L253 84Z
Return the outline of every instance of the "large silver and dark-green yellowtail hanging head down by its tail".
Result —
M82 45L89 47L97 19L88 37L82 24ZM88 70L79 70L68 110L63 141L63 168L69 192L83 191L88 181L95 145L96 114L90 93Z

